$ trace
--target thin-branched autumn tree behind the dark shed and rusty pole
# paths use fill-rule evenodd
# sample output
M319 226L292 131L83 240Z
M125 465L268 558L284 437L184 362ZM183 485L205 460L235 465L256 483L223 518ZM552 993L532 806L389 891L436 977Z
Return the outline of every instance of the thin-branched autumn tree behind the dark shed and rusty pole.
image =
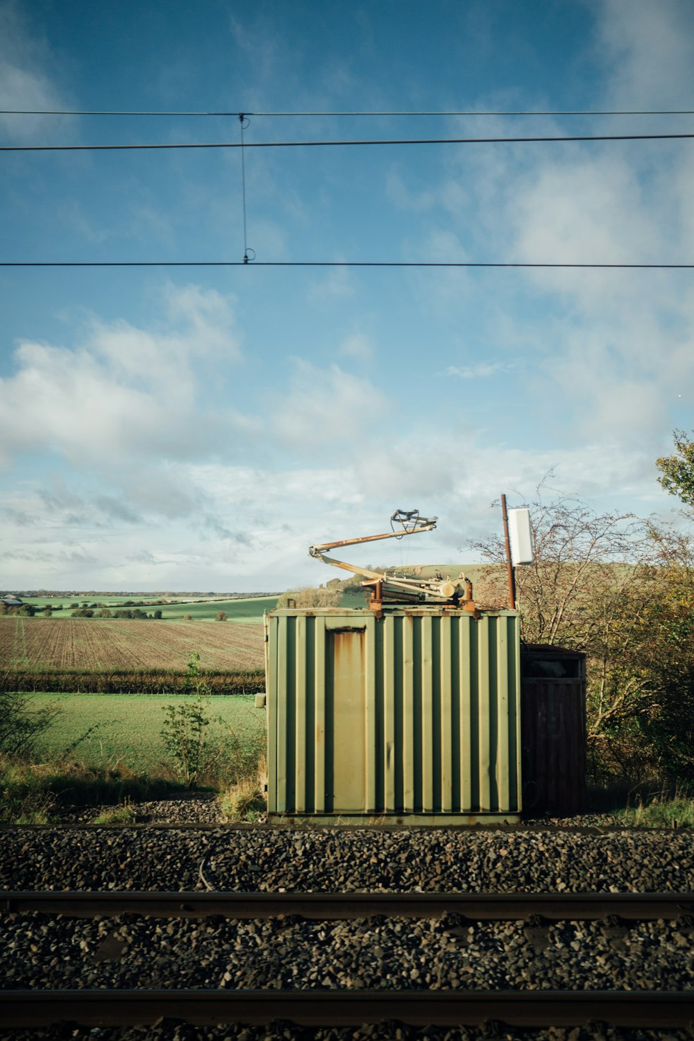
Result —
M524 504L535 560L516 569L522 639L584 652L593 752L621 772L657 769L651 725L664 696L670 616L663 605L671 600L662 545L654 529L629 514L597 514L580 500L547 502L542 492ZM475 582L475 601L506 606L503 539L472 544L498 562Z

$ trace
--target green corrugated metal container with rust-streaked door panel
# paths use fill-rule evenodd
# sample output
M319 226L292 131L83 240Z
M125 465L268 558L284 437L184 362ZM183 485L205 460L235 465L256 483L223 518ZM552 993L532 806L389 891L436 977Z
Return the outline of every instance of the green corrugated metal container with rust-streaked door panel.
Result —
M515 611L273 611L267 810L342 823L516 822Z

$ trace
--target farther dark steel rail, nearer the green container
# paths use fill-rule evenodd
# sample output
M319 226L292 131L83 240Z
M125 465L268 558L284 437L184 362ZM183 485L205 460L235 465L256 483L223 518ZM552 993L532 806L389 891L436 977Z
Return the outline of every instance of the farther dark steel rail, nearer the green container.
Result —
M0 911L70 917L139 914L159 918L274 918L313 920L436 918L472 921L589 921L615 915L632 921L694 917L694 892L679 893L266 893L0 890Z

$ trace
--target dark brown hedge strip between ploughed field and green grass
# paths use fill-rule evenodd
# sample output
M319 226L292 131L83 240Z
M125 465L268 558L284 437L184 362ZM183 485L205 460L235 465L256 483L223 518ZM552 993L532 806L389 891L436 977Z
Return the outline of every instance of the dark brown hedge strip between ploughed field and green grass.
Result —
M262 669L235 672L201 671L200 679L212 694L255 694L265 689ZM0 674L0 690L58 694L187 694L191 692L188 671L163 669L33 669Z

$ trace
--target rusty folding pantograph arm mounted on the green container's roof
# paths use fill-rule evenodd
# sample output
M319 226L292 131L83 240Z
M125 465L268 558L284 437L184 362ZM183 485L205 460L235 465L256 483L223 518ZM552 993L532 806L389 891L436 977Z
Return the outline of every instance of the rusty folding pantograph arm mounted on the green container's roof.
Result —
M406 535L433 531L437 520L438 517L420 516L419 510L395 510L390 517L390 531L380 535L363 535L361 538L343 538L337 542L324 542L322 545L310 547L308 552L310 556L323 560L327 564L363 576L365 581L361 584L371 590L371 600L368 606L377 617L381 617L383 613L384 602L438 605L470 611L478 617L479 612L472 600L472 583L462 573L458 576L457 581L440 577L432 579L403 578L397 575L374 572L367 567L359 567L357 564L349 564L343 560L327 556L330 550L336 550L342 545L376 542L383 538L404 538ZM396 525L400 525L400 528L396 528Z

